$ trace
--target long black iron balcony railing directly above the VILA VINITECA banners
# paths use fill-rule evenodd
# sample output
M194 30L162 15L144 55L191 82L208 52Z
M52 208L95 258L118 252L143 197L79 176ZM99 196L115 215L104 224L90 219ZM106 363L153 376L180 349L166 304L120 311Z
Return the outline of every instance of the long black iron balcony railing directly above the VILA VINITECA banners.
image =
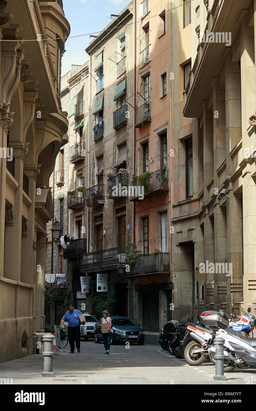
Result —
M123 246L108 248L83 254L80 260L80 270L90 268L115 266L119 263L126 263L126 256L122 254Z

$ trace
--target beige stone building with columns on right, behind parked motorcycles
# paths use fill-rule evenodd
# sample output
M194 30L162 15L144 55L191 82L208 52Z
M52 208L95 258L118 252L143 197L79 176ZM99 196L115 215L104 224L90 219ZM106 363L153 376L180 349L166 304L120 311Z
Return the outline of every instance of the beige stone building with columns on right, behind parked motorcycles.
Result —
M171 71L179 79L172 118L180 321L204 309L234 307L239 314L255 302L254 3L171 3Z

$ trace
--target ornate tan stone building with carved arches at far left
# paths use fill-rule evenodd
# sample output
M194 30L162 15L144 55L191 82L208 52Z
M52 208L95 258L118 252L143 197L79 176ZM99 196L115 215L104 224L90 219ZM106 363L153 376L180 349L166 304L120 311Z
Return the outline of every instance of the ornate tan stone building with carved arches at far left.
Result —
M0 146L12 153L0 158L0 362L35 353L44 328L49 178L68 127L58 97L60 38L70 31L61 3L0 5Z

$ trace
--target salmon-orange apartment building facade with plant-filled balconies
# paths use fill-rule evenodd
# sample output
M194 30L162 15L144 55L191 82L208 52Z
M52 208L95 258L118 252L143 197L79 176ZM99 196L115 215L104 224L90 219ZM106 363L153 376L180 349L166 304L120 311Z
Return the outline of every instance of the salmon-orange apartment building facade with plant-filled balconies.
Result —
M137 2L134 95L134 242L129 272L138 322L159 331L172 311L170 4ZM129 100L128 100L129 101ZM140 189L140 187L144 189ZM140 196L144 191L144 197Z

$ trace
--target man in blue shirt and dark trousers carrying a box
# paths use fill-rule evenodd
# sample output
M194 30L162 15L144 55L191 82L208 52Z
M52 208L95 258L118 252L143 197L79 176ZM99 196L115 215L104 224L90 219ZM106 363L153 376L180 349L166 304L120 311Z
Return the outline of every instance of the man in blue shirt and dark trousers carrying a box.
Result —
M82 322L83 319L84 321ZM60 330L62 330L62 326L65 323L65 321L67 321L69 324L67 328L67 333L69 336L70 352L74 353L76 342L77 352L80 353L80 324L85 324L85 317L83 313L81 313L81 311L79 311L78 309L74 309L74 304L70 304L69 311L67 311L65 316L62 318Z

